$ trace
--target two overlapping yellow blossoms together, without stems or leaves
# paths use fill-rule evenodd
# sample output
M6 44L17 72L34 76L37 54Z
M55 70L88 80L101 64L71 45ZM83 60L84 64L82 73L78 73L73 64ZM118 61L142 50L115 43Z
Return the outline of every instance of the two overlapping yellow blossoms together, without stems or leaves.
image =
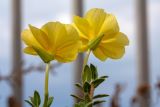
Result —
M98 8L89 10L83 18L74 16L73 24L48 22L41 28L29 25L22 32L22 40L27 45L24 52L39 55L45 63L70 62L78 52L87 50L102 61L118 59L129 44L126 35L119 31L115 16Z

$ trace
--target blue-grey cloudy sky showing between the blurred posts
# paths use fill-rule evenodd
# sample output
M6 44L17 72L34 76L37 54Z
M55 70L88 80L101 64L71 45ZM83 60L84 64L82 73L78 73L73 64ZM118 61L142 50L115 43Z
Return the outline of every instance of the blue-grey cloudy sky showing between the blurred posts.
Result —
M160 1L148 0L148 33L150 76L154 85L160 77ZM62 21L70 23L73 13L72 0L22 0L22 28L28 24L41 26L48 21ZM121 95L123 107L129 107L130 98L136 91L137 83L137 41L136 41L136 3L135 0L84 0L84 11L99 7L113 13L119 22L121 31L128 35L130 45L126 48L126 54L120 60L108 59L100 62L93 55L90 61L98 66L101 75L108 75L109 79L96 91L113 94L116 83L126 86ZM11 71L11 0L0 0L0 75L8 75ZM26 66L39 64L41 60L23 54ZM71 107L73 99L73 71L74 64L64 64L56 69L55 75L50 75L49 91L54 95L54 107ZM33 94L37 89L43 96L44 74L39 72L24 76L24 99ZM7 106L7 97L12 93L11 87L0 81L0 107ZM154 93L153 93L154 94ZM105 105L109 104L108 102ZM25 107L27 105L24 103ZM160 105L160 104L159 104ZM158 107L158 106L157 106Z

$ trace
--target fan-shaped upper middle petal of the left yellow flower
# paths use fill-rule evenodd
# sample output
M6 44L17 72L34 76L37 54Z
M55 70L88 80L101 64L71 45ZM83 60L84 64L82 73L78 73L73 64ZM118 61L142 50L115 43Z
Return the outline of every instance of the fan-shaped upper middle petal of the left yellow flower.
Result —
M48 22L41 28L51 41L52 51L63 44L63 39L66 38L67 32L65 26L60 22Z

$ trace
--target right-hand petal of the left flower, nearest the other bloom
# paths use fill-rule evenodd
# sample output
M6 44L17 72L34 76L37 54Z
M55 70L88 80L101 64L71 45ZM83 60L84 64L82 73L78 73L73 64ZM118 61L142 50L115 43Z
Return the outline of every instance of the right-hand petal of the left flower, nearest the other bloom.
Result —
M78 49L81 45L79 41L79 35L74 27L71 25L66 25L67 35L61 42L61 46L57 47L56 49L56 56L55 58L59 62L70 62L76 59L78 54Z

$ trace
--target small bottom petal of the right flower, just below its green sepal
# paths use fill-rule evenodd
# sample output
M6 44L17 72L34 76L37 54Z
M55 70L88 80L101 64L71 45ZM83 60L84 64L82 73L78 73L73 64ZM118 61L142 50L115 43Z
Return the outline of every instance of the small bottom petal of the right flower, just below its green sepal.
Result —
M101 50L100 48L96 48L95 50L93 50L93 54L101 61L105 61L107 59L107 56L104 54L103 50Z

